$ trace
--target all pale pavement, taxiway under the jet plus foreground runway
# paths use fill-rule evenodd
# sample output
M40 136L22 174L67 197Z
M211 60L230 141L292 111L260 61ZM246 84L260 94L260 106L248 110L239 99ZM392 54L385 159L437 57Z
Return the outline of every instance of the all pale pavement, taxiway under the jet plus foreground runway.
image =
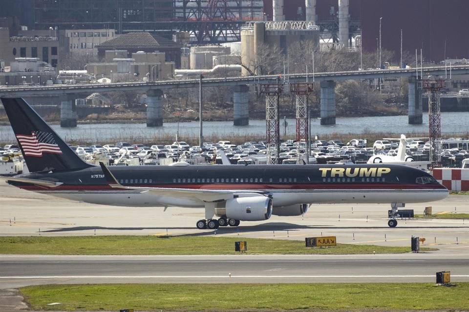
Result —
M469 220L399 220L387 226L387 205L313 205L303 216L273 216L218 231L195 229L203 209L163 209L93 205L0 186L0 235L193 235L303 240L337 236L339 243L409 246L438 251L385 255L237 256L38 256L2 255L1 288L53 283L284 283L284 282L434 282L451 271L452 281L469 281ZM422 214L469 213L467 196L414 204ZM249 250L248 250L249 253ZM230 276L231 273L231 277Z

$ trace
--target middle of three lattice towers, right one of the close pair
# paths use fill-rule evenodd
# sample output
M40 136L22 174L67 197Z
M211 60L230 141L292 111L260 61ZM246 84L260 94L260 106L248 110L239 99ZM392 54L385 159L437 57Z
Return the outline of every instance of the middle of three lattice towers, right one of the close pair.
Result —
M303 141L306 147L306 163L309 163L309 108L308 97L314 91L310 82L297 82L290 84L290 92L295 94L297 103L297 162L300 162L299 143Z

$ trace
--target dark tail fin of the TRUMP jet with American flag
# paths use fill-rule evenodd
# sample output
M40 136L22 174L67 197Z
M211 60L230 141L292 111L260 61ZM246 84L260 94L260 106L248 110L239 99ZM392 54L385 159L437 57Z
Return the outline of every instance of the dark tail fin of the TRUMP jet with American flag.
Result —
M83 161L22 98L1 98L30 172L92 167Z

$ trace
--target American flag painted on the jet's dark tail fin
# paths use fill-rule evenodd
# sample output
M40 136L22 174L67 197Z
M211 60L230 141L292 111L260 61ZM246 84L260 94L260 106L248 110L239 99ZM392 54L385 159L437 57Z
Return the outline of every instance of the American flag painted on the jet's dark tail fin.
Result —
M24 156L42 157L43 153L62 154L51 133L34 131L31 136L17 135Z

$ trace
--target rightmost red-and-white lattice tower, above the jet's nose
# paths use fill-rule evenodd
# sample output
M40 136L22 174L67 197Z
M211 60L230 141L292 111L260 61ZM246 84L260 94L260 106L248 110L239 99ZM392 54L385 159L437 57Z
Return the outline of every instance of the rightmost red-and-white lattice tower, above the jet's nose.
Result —
M441 104L440 93L445 88L441 77L423 79L422 88L428 93L428 130L430 137L430 162L432 168L441 167Z

